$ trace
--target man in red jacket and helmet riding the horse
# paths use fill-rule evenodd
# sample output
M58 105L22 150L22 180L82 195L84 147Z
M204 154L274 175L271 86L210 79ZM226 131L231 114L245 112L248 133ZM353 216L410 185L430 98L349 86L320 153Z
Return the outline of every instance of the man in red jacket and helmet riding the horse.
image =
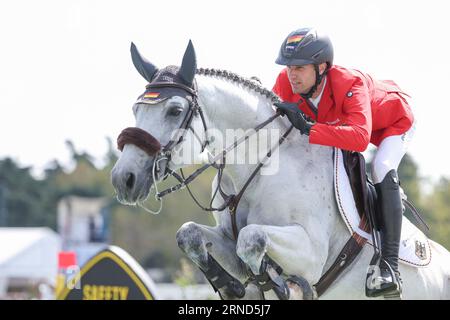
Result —
M402 203L397 168L414 132L414 117L405 93L393 81L333 65L330 39L313 28L291 32L283 41L273 91L275 104L309 142L363 152L377 151L372 179L380 197L381 285L372 296L400 293L398 252ZM307 117L311 120L309 120ZM390 271L392 269L392 273Z

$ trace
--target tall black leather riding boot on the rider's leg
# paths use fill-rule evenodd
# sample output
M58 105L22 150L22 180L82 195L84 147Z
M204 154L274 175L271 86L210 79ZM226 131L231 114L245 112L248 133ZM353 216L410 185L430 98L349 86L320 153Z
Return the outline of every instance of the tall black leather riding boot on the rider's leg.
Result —
M375 184L380 208L381 235L380 276L372 297L401 295L401 279L398 272L398 251L402 229L402 199L396 170L391 170L381 183Z

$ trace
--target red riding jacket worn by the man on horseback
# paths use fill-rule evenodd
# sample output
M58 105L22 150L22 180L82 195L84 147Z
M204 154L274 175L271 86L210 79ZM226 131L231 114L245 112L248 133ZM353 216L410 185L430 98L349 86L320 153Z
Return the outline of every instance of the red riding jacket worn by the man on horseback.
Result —
M309 142L363 152L369 142L378 146L411 128L414 116L406 95L393 81L378 81L357 70L333 66L318 106L318 116L299 94L292 92L287 69L273 87L283 101L299 102L299 108L316 124Z

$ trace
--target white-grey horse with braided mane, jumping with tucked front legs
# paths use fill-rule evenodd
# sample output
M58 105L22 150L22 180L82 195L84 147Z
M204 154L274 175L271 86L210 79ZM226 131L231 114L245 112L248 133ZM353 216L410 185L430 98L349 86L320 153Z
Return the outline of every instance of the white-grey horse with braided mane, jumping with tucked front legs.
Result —
M195 58L190 57L192 52L190 45L178 74L188 85L192 83L196 70ZM135 66L148 82L154 82L158 75L157 82L167 80L167 74L164 75L167 69L157 72L151 63L139 55L134 45L132 55ZM169 76L178 69L170 70ZM177 77L176 73L174 77ZM173 81L174 78L169 80ZM178 144L178 147L183 148L178 150L195 150L196 156L201 158L204 155L201 152L202 142L206 139L209 141L207 150L219 150L226 129L254 128L274 115L273 100L267 94L260 93L259 85L249 86L241 78L219 76L217 72L213 75L204 75L204 72L202 75L197 74L195 83L206 127L215 130L208 131L210 135L207 136L202 117L194 114L191 122L194 130L187 132ZM255 90L255 87L258 89ZM165 88L156 93L150 92L155 91L155 88L158 89L150 86L146 91L150 95L149 100L157 94L164 96L162 89ZM141 99L133 107L136 127L150 133L161 145L171 141L171 133L181 126L191 103L185 94L163 98L151 102L153 104L143 103L145 101ZM289 127L287 119L278 117L266 128L285 132ZM266 150L269 149L267 141L258 142L259 148L265 145ZM152 176L150 173L156 153L145 152L131 143L125 143L122 147L123 152L112 170L112 183L118 199L126 204L144 201L155 183L154 179L158 181L163 178L164 168L176 170L192 163L183 162L183 157L175 148L171 160L162 163L163 169ZM248 159L248 152L254 152L246 148L237 148L236 151L238 159ZM215 272L216 276L219 271L222 274L226 272L228 278L225 280L234 278L241 284L247 282L244 299L263 297L257 286L248 283L248 280L252 273L261 276L262 272L268 272L273 276L273 268L264 269L265 257L283 269L283 279L297 275L313 285L333 264L349 238L335 201L333 148L310 144L307 137L295 130L280 146L278 158L269 159L267 165L270 161L272 164L278 161L278 172L258 175L239 203L236 213L237 240L233 235L228 209L214 212L215 226L187 222L177 232L180 248L203 272L209 272L210 275ZM254 170L255 164L226 163L221 185L225 193L236 194ZM216 176L213 192L217 183ZM219 207L223 202L220 194L216 195L213 207ZM436 242L430 243L433 259L428 266L399 266L405 299L450 299L450 253ZM365 245L349 269L320 298L367 299L365 280L372 254L373 249ZM303 293L295 282L288 281L287 284L291 298L302 297ZM219 291L224 298L233 298L228 287L222 287ZM277 295L272 290L265 294L265 298L274 299Z

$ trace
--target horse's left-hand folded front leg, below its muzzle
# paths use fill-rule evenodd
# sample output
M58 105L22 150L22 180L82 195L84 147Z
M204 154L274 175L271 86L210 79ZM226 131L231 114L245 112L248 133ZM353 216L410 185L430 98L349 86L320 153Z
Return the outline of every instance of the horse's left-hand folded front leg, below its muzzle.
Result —
M224 299L259 299L259 290L244 287L248 279L242 261L236 255L236 242L220 226L210 227L187 222L177 232L181 250L200 268Z

